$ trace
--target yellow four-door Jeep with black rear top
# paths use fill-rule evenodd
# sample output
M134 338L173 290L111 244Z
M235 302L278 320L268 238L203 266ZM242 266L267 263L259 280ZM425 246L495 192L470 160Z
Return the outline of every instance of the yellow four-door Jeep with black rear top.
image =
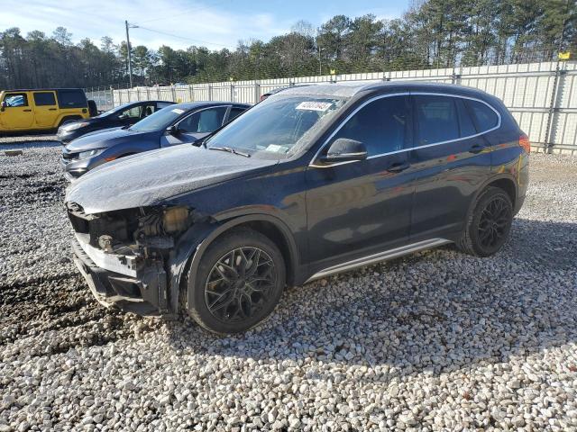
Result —
M57 129L67 121L90 117L87 96L79 88L0 92L0 134Z

